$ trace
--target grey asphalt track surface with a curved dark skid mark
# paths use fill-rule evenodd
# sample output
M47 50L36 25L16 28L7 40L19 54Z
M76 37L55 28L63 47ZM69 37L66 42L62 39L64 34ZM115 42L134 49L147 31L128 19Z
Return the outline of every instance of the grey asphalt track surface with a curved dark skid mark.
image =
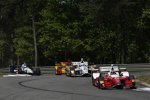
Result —
M150 92L100 90L92 86L91 77L4 77L0 78L0 100L150 100Z

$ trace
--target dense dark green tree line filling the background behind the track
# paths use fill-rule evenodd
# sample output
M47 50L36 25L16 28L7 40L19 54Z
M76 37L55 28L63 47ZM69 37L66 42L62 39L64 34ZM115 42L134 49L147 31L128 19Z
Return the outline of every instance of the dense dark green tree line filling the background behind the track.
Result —
M38 66L148 63L150 0L1 0L1 67L34 66L34 32Z

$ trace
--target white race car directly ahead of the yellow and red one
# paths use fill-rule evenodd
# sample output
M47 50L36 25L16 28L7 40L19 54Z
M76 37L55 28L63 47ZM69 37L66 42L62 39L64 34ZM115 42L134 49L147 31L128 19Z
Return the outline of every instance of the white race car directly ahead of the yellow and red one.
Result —
M66 76L90 76L88 62L83 59L80 62L72 62L72 66L67 68Z

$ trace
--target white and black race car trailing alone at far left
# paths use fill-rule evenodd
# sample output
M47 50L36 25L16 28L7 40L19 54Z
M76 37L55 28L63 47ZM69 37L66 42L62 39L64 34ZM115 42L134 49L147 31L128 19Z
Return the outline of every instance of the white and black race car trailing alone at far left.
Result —
M41 75L40 68L30 68L25 63L22 65L10 66L10 73Z

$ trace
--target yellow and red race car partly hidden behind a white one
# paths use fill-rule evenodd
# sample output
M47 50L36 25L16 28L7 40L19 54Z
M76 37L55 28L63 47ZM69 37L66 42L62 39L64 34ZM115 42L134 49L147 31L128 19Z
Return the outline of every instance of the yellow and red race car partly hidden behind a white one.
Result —
M66 74L66 67L71 65L71 61L64 61L55 64L55 74L61 75Z

